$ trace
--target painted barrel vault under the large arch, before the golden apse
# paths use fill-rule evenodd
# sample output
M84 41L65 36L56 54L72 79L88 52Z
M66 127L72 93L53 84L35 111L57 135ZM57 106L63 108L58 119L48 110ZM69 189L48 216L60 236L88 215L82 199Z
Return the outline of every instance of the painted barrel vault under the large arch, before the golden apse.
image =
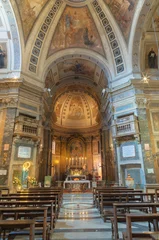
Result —
M97 63L76 56L56 62L46 76L45 87L52 89L54 85L69 80L83 80L84 85L90 81L101 90L108 85L105 73Z

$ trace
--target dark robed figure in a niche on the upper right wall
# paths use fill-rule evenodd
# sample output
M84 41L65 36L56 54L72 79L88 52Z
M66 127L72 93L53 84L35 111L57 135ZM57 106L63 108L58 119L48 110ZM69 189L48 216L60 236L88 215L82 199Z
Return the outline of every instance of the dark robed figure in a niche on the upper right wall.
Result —
M145 68L158 68L158 49L156 44L147 44L145 46Z

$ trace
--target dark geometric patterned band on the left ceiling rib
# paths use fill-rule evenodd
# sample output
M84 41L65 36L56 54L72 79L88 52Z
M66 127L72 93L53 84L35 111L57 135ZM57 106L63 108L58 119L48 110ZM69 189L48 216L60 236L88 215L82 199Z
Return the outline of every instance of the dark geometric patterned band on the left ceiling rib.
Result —
M60 5L63 3L62 0L56 0L55 4L53 5L53 7L51 8L51 10L49 11L47 17L45 18L38 34L37 34L37 38L35 40L35 44L33 46L32 49L32 54L30 57L30 64L29 64L29 71L36 73L37 70L37 65L38 65L38 59L40 56L40 51L43 45L43 42L45 40L46 37L46 33L49 29L49 26L51 24L51 22L53 21L53 19L55 18L55 14L58 11Z

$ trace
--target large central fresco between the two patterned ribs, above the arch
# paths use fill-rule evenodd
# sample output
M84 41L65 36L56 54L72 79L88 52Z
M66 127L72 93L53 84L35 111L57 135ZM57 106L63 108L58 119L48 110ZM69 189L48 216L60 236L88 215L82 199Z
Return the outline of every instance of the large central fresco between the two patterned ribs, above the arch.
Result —
M87 7L66 7L56 27L48 56L72 47L91 49L104 55L99 33Z

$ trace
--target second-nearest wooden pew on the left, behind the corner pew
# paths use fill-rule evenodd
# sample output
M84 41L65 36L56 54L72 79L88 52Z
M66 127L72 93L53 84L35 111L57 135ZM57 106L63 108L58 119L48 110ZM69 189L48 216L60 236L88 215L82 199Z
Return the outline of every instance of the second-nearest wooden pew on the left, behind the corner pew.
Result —
M6 220L12 217L14 220L21 218L31 218L35 220L35 229L36 227L43 227L41 235L43 239L47 239L47 210L48 207L1 207L0 208L0 218L1 220ZM37 217L43 217L42 224L36 221ZM36 230L35 230L36 234ZM39 231L38 231L39 234ZM13 235L13 234L12 234ZM14 233L16 235L16 232ZM20 234L18 234L20 235ZM28 235L28 231L23 231L23 235Z

